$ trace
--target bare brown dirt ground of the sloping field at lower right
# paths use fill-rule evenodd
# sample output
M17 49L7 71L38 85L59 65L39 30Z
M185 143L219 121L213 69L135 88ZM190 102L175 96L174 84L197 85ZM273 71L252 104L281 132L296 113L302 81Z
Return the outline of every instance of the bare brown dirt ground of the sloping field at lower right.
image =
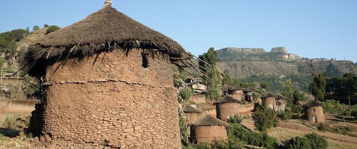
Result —
M334 120L335 119L335 120ZM326 115L326 125L335 126L349 126L351 128L357 127L354 122L344 122L343 120L336 120L331 115ZM331 132L318 131L313 126L305 126L303 120L292 119L289 121L280 121L279 127L271 128L268 130L269 136L275 137L279 142L283 143L293 137L303 136L305 134L316 133L327 139L329 149L357 149L357 138L342 134L335 134ZM244 119L242 125L248 129L254 130L253 119ZM356 133L357 129L350 129L351 133Z

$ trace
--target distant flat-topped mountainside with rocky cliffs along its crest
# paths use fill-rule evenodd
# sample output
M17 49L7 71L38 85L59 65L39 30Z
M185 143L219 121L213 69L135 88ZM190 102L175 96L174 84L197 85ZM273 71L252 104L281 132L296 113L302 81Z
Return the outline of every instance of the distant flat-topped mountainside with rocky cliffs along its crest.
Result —
M287 79L295 80L297 88L307 91L311 80L307 62L312 60L315 71L325 72L327 77L357 73L357 64L348 60L325 58L308 59L288 53L284 47L264 49L225 48L218 51L223 72L228 69L234 78L247 82L268 82L274 90L281 90Z

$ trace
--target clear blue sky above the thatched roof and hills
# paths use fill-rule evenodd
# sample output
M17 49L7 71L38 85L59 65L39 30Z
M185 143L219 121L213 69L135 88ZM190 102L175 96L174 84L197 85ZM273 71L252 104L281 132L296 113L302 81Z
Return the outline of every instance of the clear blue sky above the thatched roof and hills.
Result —
M68 26L105 0L2 0L0 32ZM195 55L210 47L286 47L357 62L357 0L112 0L113 7Z

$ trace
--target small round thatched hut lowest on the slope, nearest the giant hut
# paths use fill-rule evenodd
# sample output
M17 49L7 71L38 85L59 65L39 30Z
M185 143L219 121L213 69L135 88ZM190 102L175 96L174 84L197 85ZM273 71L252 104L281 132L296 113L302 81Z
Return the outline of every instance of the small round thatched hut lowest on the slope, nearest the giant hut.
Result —
M227 140L226 126L229 124L205 114L190 124L190 142L214 144L215 141Z

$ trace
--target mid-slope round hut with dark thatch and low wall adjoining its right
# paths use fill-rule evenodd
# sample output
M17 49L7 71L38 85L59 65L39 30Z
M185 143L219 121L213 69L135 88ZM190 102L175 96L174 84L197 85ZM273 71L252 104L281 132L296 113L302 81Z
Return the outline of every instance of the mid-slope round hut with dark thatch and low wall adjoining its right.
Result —
M245 104L244 100L240 101L228 95L225 95L213 105L216 105L217 118L223 121L228 121L229 117L234 115L248 115L254 110L254 103Z

